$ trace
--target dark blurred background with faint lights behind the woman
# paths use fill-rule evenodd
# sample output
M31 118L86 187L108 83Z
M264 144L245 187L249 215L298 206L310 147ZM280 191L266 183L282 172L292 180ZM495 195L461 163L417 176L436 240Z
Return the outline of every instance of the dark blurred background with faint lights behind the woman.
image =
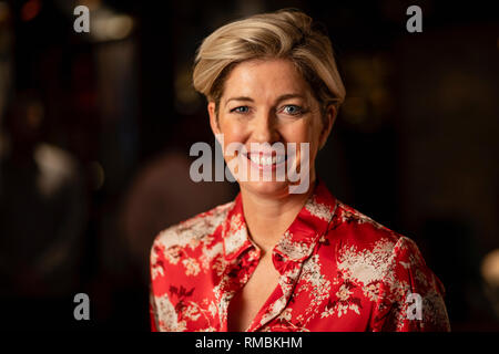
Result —
M499 21L487 2L0 0L2 329L149 331L149 248L230 201L194 184L214 146L192 87L227 21L298 8L323 22L347 97L318 158L342 201L413 238L454 331L499 330ZM77 33L73 10L90 9ZM409 33L406 9L422 9ZM73 319L74 294L90 321Z

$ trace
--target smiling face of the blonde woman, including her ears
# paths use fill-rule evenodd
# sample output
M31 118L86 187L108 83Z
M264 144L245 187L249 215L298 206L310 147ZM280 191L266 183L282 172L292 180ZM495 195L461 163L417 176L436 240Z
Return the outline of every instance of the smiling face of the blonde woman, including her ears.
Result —
M237 167L240 175L234 174L241 188L275 197L287 195L291 185L312 185L317 150L326 142L335 118L332 106L326 112L327 119L323 119L309 85L287 60L252 60L237 64L225 81L217 115L214 102L208 103L208 113L213 132L223 135L227 165L236 166L237 160L233 159L238 158L238 166L244 163L248 167ZM232 143L238 143L243 150L227 153ZM275 143L282 143L284 150L268 148ZM296 144L296 154L287 148L288 143ZM286 168L281 169L283 166ZM292 181L287 173L284 178L277 178L277 170L291 167L299 173L301 179L308 180ZM242 178L243 171L247 178Z

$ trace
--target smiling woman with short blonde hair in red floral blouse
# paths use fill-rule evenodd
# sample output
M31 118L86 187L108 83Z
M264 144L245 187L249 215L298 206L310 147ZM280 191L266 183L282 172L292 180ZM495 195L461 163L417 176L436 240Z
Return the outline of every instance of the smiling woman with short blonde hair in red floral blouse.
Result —
M194 86L241 192L156 237L153 330L449 330L444 285L417 246L316 176L345 88L309 17L286 10L216 30L198 50ZM228 154L231 144L244 148ZM301 171L305 190L291 192L289 174L277 178L284 163Z

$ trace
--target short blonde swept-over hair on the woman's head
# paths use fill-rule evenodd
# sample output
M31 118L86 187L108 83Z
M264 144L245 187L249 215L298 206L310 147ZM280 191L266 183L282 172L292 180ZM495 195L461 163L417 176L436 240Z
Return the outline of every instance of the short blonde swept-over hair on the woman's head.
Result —
M338 108L345 98L328 37L297 10L252 15L210 34L197 50L194 88L217 107L228 73L253 59L291 60L324 110L330 104Z

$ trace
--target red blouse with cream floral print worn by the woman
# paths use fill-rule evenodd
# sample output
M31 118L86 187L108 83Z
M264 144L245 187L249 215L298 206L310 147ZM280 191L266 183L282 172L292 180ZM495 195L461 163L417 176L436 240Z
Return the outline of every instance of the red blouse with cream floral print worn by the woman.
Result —
M241 194L162 231L151 250L152 330L227 331L228 303L258 259ZM278 285L247 331L450 331L444 285L415 242L344 205L323 181L273 262Z

